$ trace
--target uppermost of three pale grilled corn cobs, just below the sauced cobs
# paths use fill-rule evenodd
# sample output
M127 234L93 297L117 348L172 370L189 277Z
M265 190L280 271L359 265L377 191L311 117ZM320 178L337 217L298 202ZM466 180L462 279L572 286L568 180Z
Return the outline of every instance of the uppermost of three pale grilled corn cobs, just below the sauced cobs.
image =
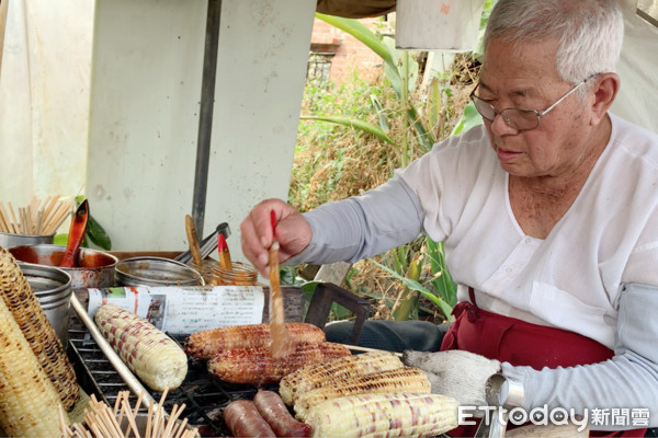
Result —
M279 385L279 394L287 405L293 405L298 394L315 388L349 379L353 376L368 374L401 368L402 361L394 353L368 351L347 356L340 359L306 366L284 377Z

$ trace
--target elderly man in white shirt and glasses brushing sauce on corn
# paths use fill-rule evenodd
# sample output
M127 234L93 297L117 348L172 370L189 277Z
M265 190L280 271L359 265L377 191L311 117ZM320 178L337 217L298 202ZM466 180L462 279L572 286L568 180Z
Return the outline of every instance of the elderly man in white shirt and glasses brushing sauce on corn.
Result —
M642 436L658 425L658 136L608 112L622 38L616 0L499 0L472 94L484 125L363 196L305 215L259 204L245 254L266 273L271 210L290 264L426 233L463 286L442 351L406 354L441 376L433 390L483 403L502 372L526 411L574 408L592 430ZM417 345L401 325L386 330ZM436 337L424 328L415 336Z

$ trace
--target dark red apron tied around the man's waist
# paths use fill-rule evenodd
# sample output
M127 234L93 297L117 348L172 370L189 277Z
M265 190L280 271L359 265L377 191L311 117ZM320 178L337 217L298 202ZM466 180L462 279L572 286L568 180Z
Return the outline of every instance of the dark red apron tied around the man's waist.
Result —
M597 364L613 356L610 348L577 333L487 312L476 306L473 288L468 293L472 302L455 306L455 321L443 338L441 350L463 349L536 370ZM449 435L474 436L476 429L477 426L462 426ZM590 436L644 437L646 429L595 430Z

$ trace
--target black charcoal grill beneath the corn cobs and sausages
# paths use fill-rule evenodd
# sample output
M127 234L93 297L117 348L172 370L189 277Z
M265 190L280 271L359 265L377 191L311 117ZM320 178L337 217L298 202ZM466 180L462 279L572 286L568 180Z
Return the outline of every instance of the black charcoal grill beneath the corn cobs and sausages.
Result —
M86 290L77 290L76 295L86 306ZM305 322L324 328L333 302L348 308L355 314L356 320L350 336L350 343L355 343L359 339L363 322L367 319L370 303L336 285L319 284L316 287ZM172 337L182 344L182 337ZM113 406L118 392L128 391L131 392L131 403L136 403L137 396L123 382L72 309L69 319L69 354L78 381L87 393L94 394L97 399ZM277 390L276 384L261 388ZM146 389L155 400L160 399L161 393ZM207 372L205 364L190 358L188 377L180 388L169 392L164 401L164 410L171 412L174 404L182 405L184 403L185 410L181 417L188 418L191 426L198 428L202 437L229 437L230 431L222 415L224 407L235 400L251 400L257 391L256 385L227 383L213 378Z

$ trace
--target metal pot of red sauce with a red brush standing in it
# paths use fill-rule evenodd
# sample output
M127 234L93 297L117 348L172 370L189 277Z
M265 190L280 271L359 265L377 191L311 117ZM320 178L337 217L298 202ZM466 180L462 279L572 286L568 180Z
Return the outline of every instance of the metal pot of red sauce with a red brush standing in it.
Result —
M39 244L13 246L9 251L20 262L58 267L66 253L66 246ZM112 254L81 247L78 252L77 267L60 269L71 276L72 289L107 288L114 286L114 267L117 262L118 258Z

